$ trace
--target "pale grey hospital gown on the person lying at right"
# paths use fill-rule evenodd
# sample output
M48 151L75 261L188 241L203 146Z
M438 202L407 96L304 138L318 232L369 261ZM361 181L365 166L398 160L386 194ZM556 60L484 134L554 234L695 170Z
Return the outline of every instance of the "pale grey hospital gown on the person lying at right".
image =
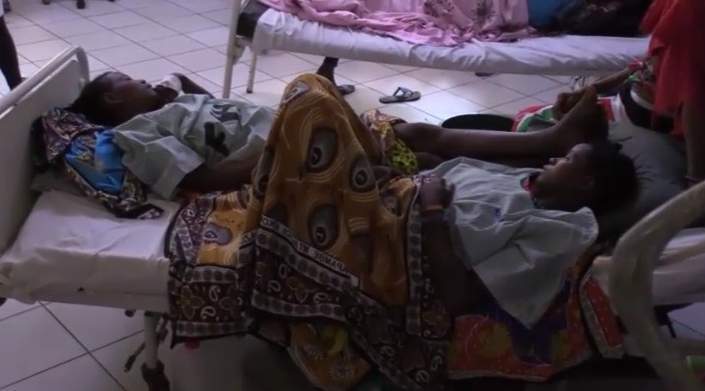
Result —
M538 172L466 158L430 171L455 186L446 212L454 251L526 327L548 309L563 274L598 234L588 208L537 207L524 184Z

